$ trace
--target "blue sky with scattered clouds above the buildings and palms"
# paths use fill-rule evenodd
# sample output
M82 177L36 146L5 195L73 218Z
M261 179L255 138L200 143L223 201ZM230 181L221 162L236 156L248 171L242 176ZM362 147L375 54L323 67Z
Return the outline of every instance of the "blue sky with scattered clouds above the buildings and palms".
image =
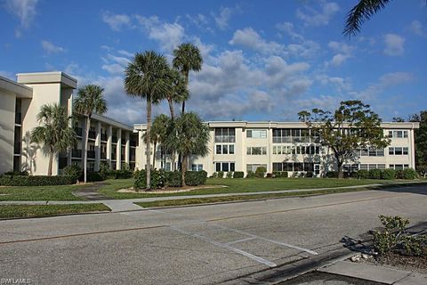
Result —
M61 70L105 88L108 115L145 121L123 70L134 53L192 42L204 65L190 74L187 106L205 120L295 120L342 100L372 105L383 120L427 109L427 9L395 0L351 39L357 1L0 0L0 76ZM165 103L155 114L168 113Z

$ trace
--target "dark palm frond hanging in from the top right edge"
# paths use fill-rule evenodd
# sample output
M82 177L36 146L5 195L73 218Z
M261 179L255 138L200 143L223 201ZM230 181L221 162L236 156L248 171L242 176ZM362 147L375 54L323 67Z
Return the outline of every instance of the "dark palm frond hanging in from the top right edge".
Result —
M347 14L342 33L351 37L360 32L360 26L376 12L382 10L390 0L360 0Z

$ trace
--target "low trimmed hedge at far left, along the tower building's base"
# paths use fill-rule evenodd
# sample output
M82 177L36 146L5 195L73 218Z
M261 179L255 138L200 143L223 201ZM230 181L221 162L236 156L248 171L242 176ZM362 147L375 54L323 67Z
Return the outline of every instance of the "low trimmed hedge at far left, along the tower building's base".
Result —
M0 185L3 186L51 186L76 183L75 176L69 175L1 175Z

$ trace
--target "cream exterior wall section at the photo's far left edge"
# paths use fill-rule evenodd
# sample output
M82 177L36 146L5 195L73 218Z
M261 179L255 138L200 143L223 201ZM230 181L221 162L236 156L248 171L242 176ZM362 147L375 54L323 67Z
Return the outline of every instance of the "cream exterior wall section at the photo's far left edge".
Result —
M0 89L0 173L13 169L16 95Z

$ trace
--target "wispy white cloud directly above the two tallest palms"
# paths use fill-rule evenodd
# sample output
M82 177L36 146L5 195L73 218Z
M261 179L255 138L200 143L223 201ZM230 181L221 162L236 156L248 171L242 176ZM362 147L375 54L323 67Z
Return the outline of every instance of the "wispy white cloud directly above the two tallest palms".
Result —
M159 42L163 51L171 52L180 45L185 37L185 29L177 22L169 23L159 20L157 16L149 18L136 15L141 28L149 38Z

